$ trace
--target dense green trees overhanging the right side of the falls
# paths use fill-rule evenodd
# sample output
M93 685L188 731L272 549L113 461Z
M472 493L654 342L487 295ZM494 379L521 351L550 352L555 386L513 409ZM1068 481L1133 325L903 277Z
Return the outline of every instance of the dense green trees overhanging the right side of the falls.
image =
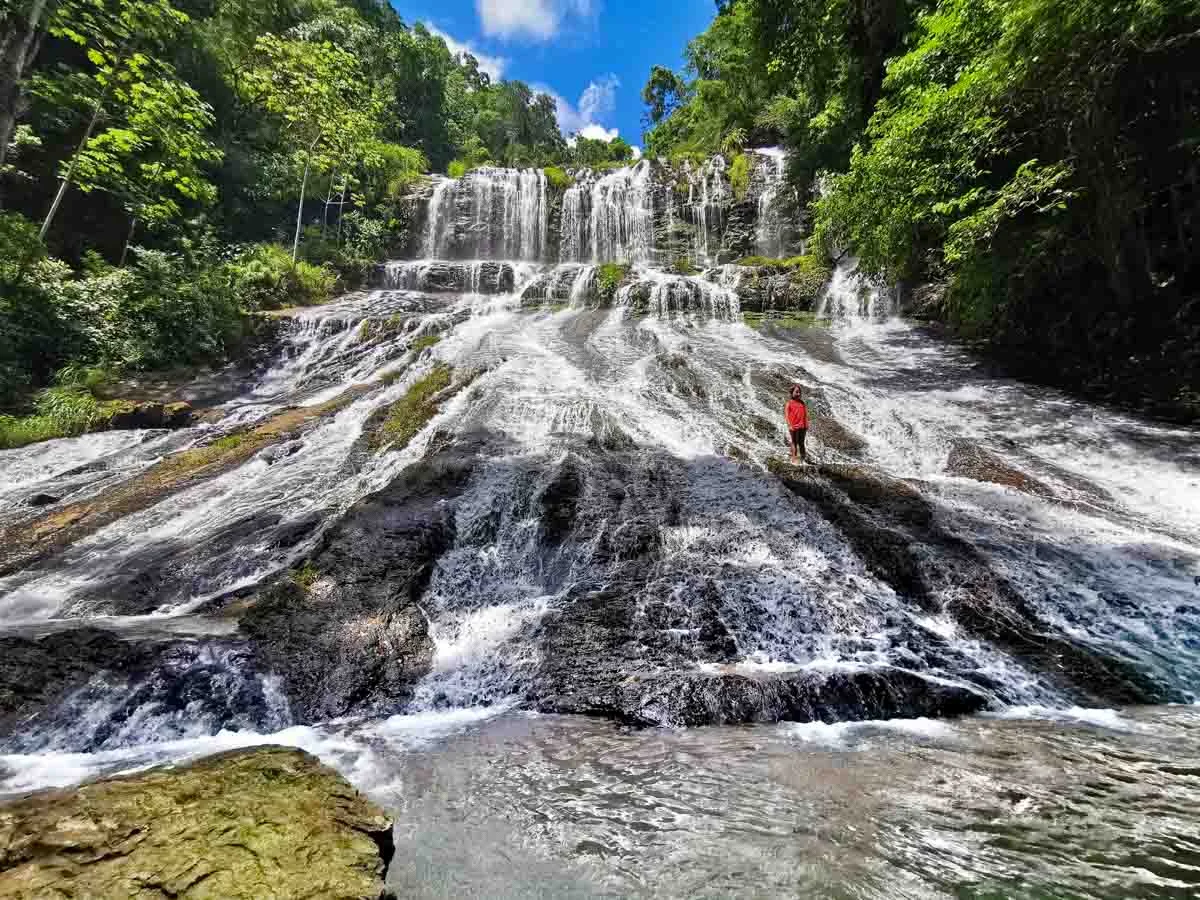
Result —
M732 0L650 72L648 152L784 143L815 232L1028 376L1200 413L1200 13Z

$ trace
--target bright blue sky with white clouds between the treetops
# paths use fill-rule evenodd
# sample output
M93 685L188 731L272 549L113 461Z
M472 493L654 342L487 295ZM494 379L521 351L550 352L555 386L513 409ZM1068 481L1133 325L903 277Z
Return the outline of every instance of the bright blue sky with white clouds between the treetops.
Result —
M553 94L564 133L641 144L650 66L678 68L713 0L392 0L493 76Z

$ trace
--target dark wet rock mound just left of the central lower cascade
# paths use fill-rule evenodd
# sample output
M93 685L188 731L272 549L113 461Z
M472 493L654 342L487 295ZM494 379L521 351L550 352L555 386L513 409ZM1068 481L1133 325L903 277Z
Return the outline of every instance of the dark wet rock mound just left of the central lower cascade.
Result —
M258 667L282 678L296 720L384 714L412 697L433 658L418 600L474 464L457 446L410 467L323 536L305 574L250 604L240 630Z

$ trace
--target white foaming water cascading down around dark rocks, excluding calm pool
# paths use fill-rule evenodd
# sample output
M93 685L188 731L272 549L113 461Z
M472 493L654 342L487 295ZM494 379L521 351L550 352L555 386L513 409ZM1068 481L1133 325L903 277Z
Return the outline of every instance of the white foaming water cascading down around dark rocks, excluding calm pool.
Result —
M300 313L284 355L244 397L228 403L224 420L214 426L169 436L176 442L169 445L155 443L166 442L163 436L143 443L140 436L113 434L0 454L5 503L64 485L98 490L78 487L64 473L103 461L104 478L127 478L160 452L259 421L286 406L313 406L367 386L282 448L0 581L0 620L14 626L115 613L140 572L162 576L148 610L151 619L192 614L210 598L252 586L302 558L316 533L288 548L278 547L272 535L306 517L329 521L383 487L422 456L434 432L482 431L505 446L481 466L456 511L463 534L482 533L498 520L494 539L467 541L446 553L421 599L436 656L412 715L260 734L222 731L224 726L204 719L155 719L146 710L134 716L138 727L119 732L98 752L0 757L6 773L0 790L70 784L92 773L236 745L288 743L313 750L361 786L398 792L397 756L520 697L538 661L527 640L530 630L572 587L605 576L587 548L570 560L566 576L547 571L534 541L536 521L516 502L528 491L521 466L548 476L572 442L617 434L638 454L668 460L670 470L685 474L676 488L679 521L662 526L661 584L650 587L692 596L706 583L720 583L733 598L730 608L743 613L730 623L743 655L732 664L734 671L919 667L906 644L906 635L919 629L988 673L1012 702L1010 714L1108 722L1111 714L1073 710L1038 673L960 634L953 622L914 616L835 527L762 473L766 461L784 452L779 385L793 380L820 389L833 418L864 442L863 458L854 458L814 434L817 460L868 464L918 481L948 528L984 552L1048 620L1078 640L1118 649L1195 695L1196 432L986 376L955 348L892 318L886 293L850 265L839 268L822 300L821 313L834 319L830 329L786 334L748 328L739 318L739 270L725 268L702 280L649 266L648 172L643 163L610 173L564 206L564 234L568 217L578 234L577 244L563 241L560 256L571 262L557 269L570 286L566 310L521 311L521 292L544 274L528 262L546 254L544 184L512 173L443 181L430 214L431 254L524 258L511 265L511 293L481 295L481 262L466 264L480 275L469 276L464 293L442 295L418 290L428 287L422 280L434 260L397 264L389 270L396 288ZM720 190L719 175L708 178L707 188L702 180L696 184L697 216L708 215L701 210ZM455 204L466 204L479 222L499 221L503 230L480 230L472 239L476 246L454 244L449 223L457 215ZM648 314L635 316L623 306L637 284L623 288L614 310L582 308L595 268L580 263L589 259L642 263L637 278L649 292ZM434 348L410 349L431 334L442 336ZM434 360L488 372L404 451L352 464L370 415L403 396ZM379 380L394 373L401 376L394 384ZM952 442L964 438L1037 478L1052 494L1028 496L949 473ZM748 463L737 464L733 456ZM169 569L166 575L163 568ZM142 618L116 618L127 620L144 625ZM923 673L954 677L937 667ZM78 715L98 722L110 697L91 707L79 698ZM491 704L491 712L480 712L480 703ZM446 704L457 708L444 712ZM860 745L863 734L898 727L911 738L937 740L953 740L947 728L956 728L922 721L803 726L786 736L793 744L846 748Z

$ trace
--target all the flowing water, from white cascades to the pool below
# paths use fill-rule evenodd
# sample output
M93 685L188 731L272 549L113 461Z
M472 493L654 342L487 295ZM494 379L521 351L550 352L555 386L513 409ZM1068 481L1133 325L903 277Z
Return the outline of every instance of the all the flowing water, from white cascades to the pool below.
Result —
M770 154L763 163L782 168ZM918 629L988 673L988 715L637 731L530 714L520 702L530 629L572 584L605 570L578 557L565 582L550 583L522 550L530 522L514 512L487 547L439 560L422 598L433 670L404 714L294 726L286 698L264 683L256 690L272 710L265 726L148 706L115 737L85 744L80 722L103 721L130 690L94 685L70 707L73 718L0 744L0 793L284 743L317 752L395 811L390 881L403 896L1194 896L1195 707L1073 708L1042 674L950 618L906 608L762 467L786 452L780 391L803 380L857 436L846 444L814 433L816 460L918 485L947 529L1046 622L1195 702L1200 434L995 377L895 318L848 266L822 305L830 326L751 328L733 288L649 268L640 272L656 298L648 314L619 295L611 308L589 308L594 269L581 263L650 259L647 172L590 176L568 192L558 270L546 259L540 173L443 181L426 252L451 252L454 217L466 209L480 224L466 256L526 260L514 264L511 290L478 293L476 275L461 293L425 293L414 281L306 310L276 365L212 424L0 452L0 524L19 523L37 514L25 503L34 494L96 497L196 442L359 391L312 430L0 578L0 629L86 622L127 634L175 628L203 641L230 628L197 616L206 602L312 547L278 535L350 509L438 433L503 440L463 502L463 522L515 490L506 463L551 466L572 442L619 434L686 467L660 576L683 594L714 577L738 592L746 614L731 625L734 670L911 666L906 635ZM696 215L715 215L722 190L719 172L698 173ZM503 239L488 236L488 222ZM778 252L769 233L757 239ZM556 271L569 304L522 302L535 278ZM436 347L410 352L430 335L440 337ZM360 458L370 416L438 361L485 373L402 451ZM1043 490L955 474L948 458L964 440ZM205 665L234 677L240 664ZM936 666L925 674L960 677Z

